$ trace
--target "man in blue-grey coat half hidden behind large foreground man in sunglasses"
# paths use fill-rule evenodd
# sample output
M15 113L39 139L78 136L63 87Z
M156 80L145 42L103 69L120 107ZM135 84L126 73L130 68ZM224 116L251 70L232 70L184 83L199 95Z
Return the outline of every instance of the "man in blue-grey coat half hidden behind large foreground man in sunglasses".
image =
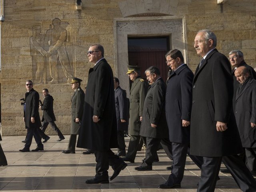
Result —
M126 91L119 85L119 79L114 77L115 105L116 105L116 123L118 139L118 155L125 156L124 131L128 129L129 110L126 98Z

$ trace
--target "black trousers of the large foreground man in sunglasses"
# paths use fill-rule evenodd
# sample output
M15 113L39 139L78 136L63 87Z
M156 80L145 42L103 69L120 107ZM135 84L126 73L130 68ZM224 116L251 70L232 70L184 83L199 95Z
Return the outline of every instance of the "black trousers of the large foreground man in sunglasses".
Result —
M108 179L108 168L109 165L115 170L124 161L115 155L111 149L108 151L94 151L96 157L96 177Z

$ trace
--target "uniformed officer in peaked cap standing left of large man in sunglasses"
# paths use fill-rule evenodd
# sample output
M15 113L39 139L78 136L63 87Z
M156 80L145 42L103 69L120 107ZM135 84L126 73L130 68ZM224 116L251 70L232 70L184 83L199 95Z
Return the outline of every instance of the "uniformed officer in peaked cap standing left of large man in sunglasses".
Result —
M71 134L68 142L68 149L62 153L76 153L76 135L79 133L80 124L84 112L84 91L80 87L81 79L73 77L70 82L74 94L71 98Z

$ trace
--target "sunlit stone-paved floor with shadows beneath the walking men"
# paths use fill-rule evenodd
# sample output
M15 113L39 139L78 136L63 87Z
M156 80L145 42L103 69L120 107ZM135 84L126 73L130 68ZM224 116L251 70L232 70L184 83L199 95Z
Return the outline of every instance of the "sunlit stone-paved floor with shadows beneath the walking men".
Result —
M170 174L166 170L171 165L163 150L158 151L159 162L154 163L152 171L136 171L134 167L141 164L145 150L138 151L135 163L128 163L119 176L109 184L86 184L85 180L95 175L95 157L83 155L77 148L76 154L64 154L62 150L68 145L69 136L56 142L58 136L50 136L44 143L44 151L19 152L23 149L24 136L2 137L2 148L8 166L0 167L0 190L3 192L196 192L200 169L187 158L186 170L181 183L182 188L158 189ZM125 137L128 146L129 137ZM33 139L31 149L36 148ZM116 152L116 150L113 150ZM224 168L224 165L222 165ZM113 170L109 169L109 176ZM219 174L220 180L216 192L240 192L230 174Z

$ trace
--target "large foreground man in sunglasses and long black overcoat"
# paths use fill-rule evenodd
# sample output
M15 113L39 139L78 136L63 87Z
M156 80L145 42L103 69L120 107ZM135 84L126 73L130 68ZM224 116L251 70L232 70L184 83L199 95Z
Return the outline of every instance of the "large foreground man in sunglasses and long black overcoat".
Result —
M109 165L114 169L110 180L127 166L111 151L111 148L118 147L114 76L110 65L104 59L102 45L90 46L88 59L94 63L94 67L89 70L77 147L94 150L96 157L96 175L86 180L86 183L109 183Z

